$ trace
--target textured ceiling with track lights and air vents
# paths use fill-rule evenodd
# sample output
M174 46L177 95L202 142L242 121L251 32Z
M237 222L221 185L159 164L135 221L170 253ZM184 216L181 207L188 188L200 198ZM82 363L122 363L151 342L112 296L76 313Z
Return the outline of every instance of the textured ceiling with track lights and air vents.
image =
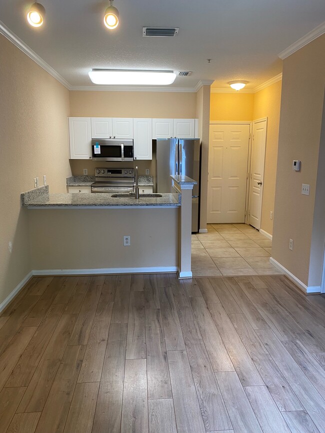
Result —
M42 28L30 27L31 2L0 0L0 20L72 86L94 86L91 68L190 70L174 87L247 80L252 89L281 72L277 54L325 21L324 0L115 0L120 24L102 22L107 2L38 0ZM175 37L142 37L142 26L175 26ZM211 62L207 62L211 58Z

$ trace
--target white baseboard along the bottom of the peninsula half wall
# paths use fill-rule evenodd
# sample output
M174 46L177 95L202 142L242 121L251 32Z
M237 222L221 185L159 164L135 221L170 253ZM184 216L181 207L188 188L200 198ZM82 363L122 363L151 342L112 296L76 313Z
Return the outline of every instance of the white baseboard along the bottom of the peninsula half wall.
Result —
M33 270L32 275L98 275L98 274L147 274L177 272L177 266L149 268L97 268L97 269L41 269Z

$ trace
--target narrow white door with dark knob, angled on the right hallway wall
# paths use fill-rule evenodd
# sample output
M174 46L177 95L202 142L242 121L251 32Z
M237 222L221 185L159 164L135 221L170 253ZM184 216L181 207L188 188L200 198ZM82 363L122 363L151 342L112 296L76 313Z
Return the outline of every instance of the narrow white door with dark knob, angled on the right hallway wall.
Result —
M260 229L267 119L253 121L251 145L248 222Z

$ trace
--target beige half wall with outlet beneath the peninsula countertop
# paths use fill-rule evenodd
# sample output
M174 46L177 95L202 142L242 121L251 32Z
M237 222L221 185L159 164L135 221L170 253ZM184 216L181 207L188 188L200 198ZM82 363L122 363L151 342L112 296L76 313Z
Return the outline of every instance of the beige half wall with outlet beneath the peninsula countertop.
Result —
M28 217L35 270L178 266L179 208L30 209Z

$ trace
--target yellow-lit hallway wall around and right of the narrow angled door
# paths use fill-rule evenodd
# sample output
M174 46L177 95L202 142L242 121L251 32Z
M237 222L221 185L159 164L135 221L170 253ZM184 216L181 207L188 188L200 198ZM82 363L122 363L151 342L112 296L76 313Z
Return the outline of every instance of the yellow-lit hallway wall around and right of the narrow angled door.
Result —
M273 221L269 217L274 211L275 178L277 162L278 127L280 119L281 81L253 94L253 119L267 117L263 197L260 228L272 234ZM274 217L274 214L273 214ZM276 217L276 216L275 216Z

